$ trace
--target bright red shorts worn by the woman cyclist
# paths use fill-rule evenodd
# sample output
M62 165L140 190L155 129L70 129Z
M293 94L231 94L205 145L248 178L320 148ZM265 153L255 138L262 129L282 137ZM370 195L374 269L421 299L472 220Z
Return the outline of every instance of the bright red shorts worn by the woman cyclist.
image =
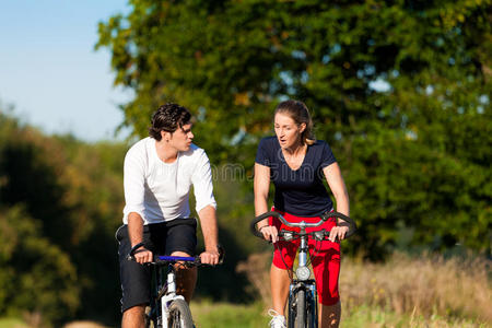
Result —
M277 210L276 210L277 211ZM289 222L318 222L319 216L302 218L285 212L277 211ZM336 225L336 219L331 218L327 222L317 227L306 227L306 232L320 229L330 230ZM280 231L300 231L298 227L286 226L279 219L270 216L270 225L277 226ZM278 242L274 244L273 266L279 269L292 269L295 255L301 241ZM316 242L312 238L308 241L308 250L311 255L313 271L316 280L316 290L318 291L318 301L324 305L335 305L340 300L338 293L338 277L340 273L340 244L330 241ZM283 260L282 260L283 258Z

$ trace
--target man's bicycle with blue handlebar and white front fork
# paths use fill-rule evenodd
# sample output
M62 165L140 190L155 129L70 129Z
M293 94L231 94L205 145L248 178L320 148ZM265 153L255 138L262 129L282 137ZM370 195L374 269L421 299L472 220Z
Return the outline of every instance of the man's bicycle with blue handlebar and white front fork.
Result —
M133 246L128 260L134 260L134 253L143 244ZM219 263L224 260L224 250L219 247ZM152 267L151 301L145 308L145 327L194 328L194 319L185 297L176 294L176 268L179 263L188 268L209 266L201 263L199 257L154 255L154 260L144 265Z

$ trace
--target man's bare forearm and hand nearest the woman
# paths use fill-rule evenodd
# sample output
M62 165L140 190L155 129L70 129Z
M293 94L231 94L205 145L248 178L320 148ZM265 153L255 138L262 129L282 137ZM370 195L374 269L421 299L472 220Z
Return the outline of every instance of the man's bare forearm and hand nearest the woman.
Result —
M200 254L201 262L209 265L219 263L219 229L216 225L215 208L206 206L198 212L201 232L203 234L206 250Z

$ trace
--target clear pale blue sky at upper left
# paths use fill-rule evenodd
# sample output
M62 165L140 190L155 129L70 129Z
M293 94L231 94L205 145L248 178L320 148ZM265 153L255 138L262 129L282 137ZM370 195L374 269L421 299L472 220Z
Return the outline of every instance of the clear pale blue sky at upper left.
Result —
M0 0L0 108L46 133L115 139L131 92L113 86L109 52L94 45L97 23L128 11L126 0Z

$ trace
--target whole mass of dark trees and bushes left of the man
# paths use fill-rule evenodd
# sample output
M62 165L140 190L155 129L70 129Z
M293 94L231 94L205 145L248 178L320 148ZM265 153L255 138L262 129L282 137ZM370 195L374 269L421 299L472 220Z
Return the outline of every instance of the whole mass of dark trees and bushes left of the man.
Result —
M0 314L114 324L127 145L46 137L1 112L0 137Z

